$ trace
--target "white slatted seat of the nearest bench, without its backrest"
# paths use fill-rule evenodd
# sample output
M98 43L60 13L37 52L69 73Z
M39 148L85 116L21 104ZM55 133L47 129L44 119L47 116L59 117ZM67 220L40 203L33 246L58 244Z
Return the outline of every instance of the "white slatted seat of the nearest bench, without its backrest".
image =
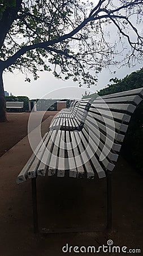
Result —
M77 142L81 140L78 146ZM92 159L89 159L88 152L85 150L86 142L84 134L78 131L50 131L43 138L44 143L40 143L36 148L35 154L29 159L29 163L23 168L17 178L17 183L39 176L57 175L58 177L86 177L93 179L94 175L105 177L105 171L98 163L96 156L92 153ZM66 142L66 143L65 143ZM69 147L67 146L69 142ZM72 150L72 148L74 148ZM86 163L83 163L82 154L86 157ZM96 168L95 168L96 166Z

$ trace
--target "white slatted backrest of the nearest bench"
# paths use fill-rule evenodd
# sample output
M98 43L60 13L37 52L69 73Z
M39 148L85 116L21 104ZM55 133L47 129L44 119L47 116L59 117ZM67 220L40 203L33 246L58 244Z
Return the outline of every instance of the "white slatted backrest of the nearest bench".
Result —
M131 114L143 98L143 89L97 97L89 108L82 129L101 167L112 171L121 143L128 129Z

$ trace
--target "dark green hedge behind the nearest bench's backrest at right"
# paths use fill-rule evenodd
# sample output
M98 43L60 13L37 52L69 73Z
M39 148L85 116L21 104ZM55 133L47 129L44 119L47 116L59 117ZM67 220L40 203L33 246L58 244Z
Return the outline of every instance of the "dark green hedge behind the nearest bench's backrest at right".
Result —
M139 71L132 72L123 79L111 79L114 84L107 85L106 88L99 90L99 96L106 94L124 92L125 90L132 90L143 87L143 68ZM125 136L122 155L129 163L132 163L135 170L140 171L143 175L143 102L137 107L135 113L132 115L127 135Z

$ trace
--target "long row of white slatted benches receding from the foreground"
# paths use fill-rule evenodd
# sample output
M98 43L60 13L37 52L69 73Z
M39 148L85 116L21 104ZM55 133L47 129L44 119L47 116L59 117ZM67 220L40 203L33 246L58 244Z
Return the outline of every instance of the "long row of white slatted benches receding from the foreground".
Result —
M107 228L111 229L111 174L143 89L73 101L53 119L50 131L17 177L32 180L34 232L37 221L37 176L107 179ZM65 181L66 182L66 181ZM50 233L50 231L49 231Z

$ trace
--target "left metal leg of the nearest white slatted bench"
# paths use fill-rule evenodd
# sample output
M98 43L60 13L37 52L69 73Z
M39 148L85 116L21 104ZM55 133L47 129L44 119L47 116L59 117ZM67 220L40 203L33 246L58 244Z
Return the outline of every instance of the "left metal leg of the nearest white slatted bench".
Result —
M31 179L32 182L32 205L33 205L33 225L34 233L38 233L38 212L37 212L37 193L36 193L36 178Z

